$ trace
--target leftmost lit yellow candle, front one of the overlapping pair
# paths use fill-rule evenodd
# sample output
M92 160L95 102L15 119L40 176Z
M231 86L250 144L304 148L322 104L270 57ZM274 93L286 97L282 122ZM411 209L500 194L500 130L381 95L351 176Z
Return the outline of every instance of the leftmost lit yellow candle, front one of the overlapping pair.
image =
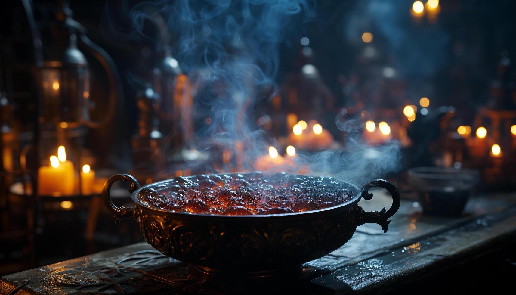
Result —
M49 166L41 166L38 169L38 194L62 195L63 179L66 178L65 169L60 167L56 156L50 157Z

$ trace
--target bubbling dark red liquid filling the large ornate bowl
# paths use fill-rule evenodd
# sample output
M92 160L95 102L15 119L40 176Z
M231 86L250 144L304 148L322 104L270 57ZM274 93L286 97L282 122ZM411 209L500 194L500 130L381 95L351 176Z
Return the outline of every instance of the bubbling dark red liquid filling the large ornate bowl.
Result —
M332 177L265 177L260 172L198 175L140 190L138 200L151 208L219 215L284 214L337 206L356 192Z

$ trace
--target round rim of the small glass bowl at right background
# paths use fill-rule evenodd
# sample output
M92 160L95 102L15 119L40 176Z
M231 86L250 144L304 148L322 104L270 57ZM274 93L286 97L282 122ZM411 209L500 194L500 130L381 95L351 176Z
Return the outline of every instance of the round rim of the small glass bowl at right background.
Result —
M480 173L469 168L415 167L407 170L409 176L426 179L476 179Z

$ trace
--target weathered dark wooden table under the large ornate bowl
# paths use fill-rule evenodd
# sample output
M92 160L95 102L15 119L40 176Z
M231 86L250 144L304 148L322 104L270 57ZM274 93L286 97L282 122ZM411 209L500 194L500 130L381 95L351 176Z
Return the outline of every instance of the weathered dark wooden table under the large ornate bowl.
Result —
M375 201L373 201L375 200ZM377 210L388 197L361 200ZM516 195L496 193L470 199L460 218L421 214L403 200L389 231L366 224L341 249L305 263L302 273L272 282L200 280L190 266L147 243L55 263L0 278L0 293L382 293L416 281L509 243L516 237ZM132 222L132 221L127 221ZM283 290L283 291L285 291Z

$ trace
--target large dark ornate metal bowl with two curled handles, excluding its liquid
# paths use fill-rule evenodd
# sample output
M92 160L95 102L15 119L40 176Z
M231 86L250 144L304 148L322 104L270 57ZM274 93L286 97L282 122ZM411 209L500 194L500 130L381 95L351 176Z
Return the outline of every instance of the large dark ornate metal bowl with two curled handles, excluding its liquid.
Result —
M131 183L133 208L119 208L109 197L111 185L117 181ZM387 231L388 220L400 205L394 184L377 179L362 190L346 183L354 197L344 204L298 213L270 215L212 215L172 212L150 208L137 199L146 187L163 187L173 180L164 180L140 187L130 175L118 174L104 184L103 200L118 221L132 217L142 236L156 250L174 259L190 263L211 274L269 276L304 262L325 256L340 248L353 235L357 226L377 223ZM367 191L385 188L392 196L392 207L380 212L365 212L361 198L373 197Z

